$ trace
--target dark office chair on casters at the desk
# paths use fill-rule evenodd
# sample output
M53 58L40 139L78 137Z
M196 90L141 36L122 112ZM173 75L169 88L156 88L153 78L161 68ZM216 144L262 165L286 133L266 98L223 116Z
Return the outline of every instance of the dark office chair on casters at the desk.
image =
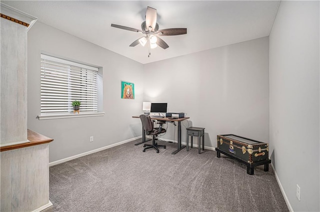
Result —
M165 149L165 145L158 145L157 143L155 143L156 136L160 133L166 132L166 130L162 128L162 124L165 122L158 122L159 127L154 128L153 122L152 122L150 116L141 114L139 117L140 117L140 120L142 123L142 127L145 131L145 134L152 135L152 144L144 144L143 147L145 147L145 148L143 149L143 152L145 152L145 150L147 150L147 149L153 148L156 150L156 153L159 153L159 149L158 149L159 147Z

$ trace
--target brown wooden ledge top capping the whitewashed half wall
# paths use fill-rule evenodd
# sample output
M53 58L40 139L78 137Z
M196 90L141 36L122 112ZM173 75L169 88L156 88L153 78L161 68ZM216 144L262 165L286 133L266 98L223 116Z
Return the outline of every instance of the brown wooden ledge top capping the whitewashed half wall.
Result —
M45 144L45 143L50 143L51 141L53 141L53 139L51 139L49 137L46 137L44 135L41 135L39 133L33 132L33 131L29 130L29 129L27 131L27 134L28 134L27 135L28 136L28 140L30 142L23 143L23 144L14 144L14 145L8 145L8 146L0 147L0 152L19 149L19 148L24 148L24 147L30 147L30 146L40 145L40 144Z

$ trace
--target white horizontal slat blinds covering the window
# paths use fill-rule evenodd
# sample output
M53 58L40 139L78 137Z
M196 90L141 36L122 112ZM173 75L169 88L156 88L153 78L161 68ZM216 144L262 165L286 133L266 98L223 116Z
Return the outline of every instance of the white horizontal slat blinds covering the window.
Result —
M41 114L70 113L72 101L80 111L97 112L95 67L41 54Z

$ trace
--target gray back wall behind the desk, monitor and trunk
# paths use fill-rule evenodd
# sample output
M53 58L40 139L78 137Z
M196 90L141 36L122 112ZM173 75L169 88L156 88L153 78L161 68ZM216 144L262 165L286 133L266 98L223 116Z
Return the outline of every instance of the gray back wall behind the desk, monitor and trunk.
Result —
M268 37L144 65L144 100L185 112L185 127L205 128L205 146L233 133L269 141ZM164 138L172 139L169 125ZM176 141L175 129L175 141Z

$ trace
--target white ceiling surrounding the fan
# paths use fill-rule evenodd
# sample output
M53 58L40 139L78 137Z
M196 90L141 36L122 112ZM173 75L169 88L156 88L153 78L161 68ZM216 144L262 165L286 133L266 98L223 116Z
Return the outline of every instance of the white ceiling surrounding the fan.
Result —
M6 1L38 21L103 48L149 63L268 36L280 1ZM111 23L140 29L146 7L157 10L159 29L187 28L187 34L162 36L169 48L129 45L140 33L111 27Z

